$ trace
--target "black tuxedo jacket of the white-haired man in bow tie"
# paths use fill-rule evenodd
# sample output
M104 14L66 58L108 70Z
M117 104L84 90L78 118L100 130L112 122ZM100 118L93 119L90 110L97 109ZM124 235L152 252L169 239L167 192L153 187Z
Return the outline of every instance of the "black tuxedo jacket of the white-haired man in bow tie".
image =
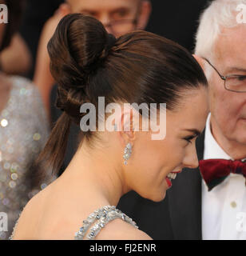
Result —
M196 139L198 159L204 154L204 132ZM117 208L133 218L140 230L155 240L202 239L201 181L199 169L184 169L173 180L161 202L141 198L131 191L125 194Z

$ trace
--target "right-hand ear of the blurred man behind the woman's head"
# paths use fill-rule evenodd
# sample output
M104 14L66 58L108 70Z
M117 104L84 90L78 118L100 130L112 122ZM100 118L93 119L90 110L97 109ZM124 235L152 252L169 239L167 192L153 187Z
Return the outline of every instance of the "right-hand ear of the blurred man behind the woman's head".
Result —
M145 30L149 22L149 16L152 11L152 5L149 0L142 0L137 20L137 30Z

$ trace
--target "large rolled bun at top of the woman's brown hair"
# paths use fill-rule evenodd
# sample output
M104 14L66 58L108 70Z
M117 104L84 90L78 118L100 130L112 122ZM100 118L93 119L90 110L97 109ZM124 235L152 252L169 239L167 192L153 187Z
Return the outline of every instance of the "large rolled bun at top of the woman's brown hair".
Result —
M83 90L116 40L96 18L83 14L62 18L48 43L50 70L58 86Z

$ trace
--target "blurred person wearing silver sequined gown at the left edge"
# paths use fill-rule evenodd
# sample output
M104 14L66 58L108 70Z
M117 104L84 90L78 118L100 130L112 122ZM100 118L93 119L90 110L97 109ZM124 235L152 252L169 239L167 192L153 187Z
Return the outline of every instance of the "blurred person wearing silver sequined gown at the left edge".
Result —
M9 6L9 22L0 24L0 49L6 49L17 33L23 1L1 1ZM14 8L10 7L14 5ZM51 181L34 185L31 168L49 135L48 120L38 89L26 78L0 72L0 212L8 217L9 237L26 202ZM45 181L46 180L46 181Z

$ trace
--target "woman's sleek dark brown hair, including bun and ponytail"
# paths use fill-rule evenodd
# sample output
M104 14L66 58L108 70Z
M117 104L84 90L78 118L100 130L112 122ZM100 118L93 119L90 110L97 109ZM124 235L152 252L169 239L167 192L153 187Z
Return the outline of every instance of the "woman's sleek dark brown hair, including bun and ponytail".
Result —
M195 58L177 43L145 31L116 39L101 22L83 14L62 18L48 51L58 82L57 106L64 112L38 161L46 160L54 172L62 165L70 123L79 124L85 115L82 103L97 108L98 97L104 96L105 106L117 101L166 103L174 110L181 91L207 86ZM90 139L94 134L83 135Z

